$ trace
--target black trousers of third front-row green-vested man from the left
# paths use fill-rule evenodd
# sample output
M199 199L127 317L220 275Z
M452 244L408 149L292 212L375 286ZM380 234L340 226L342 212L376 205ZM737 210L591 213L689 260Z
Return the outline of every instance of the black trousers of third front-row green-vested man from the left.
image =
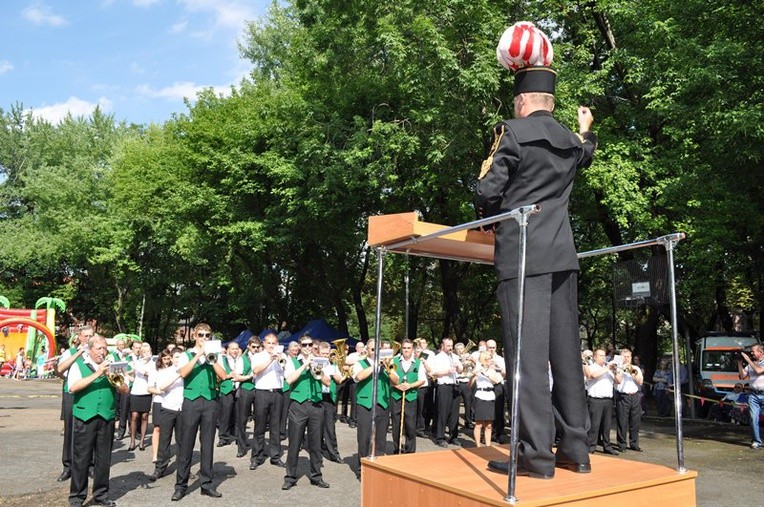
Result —
M292 401L289 404L289 447L284 482L297 482L297 462L306 428L308 429L308 454L310 455L310 482L323 480L321 475L321 466L324 463L324 458L321 455L323 414L324 409L320 402L297 403Z

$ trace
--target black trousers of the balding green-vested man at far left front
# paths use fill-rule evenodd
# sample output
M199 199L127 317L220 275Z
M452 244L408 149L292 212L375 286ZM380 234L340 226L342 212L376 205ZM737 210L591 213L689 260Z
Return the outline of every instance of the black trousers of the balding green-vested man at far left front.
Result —
M69 504L81 505L88 494L88 467L95 455L93 469L93 498L98 502L109 498L109 470L114 443L114 419L96 416L89 421L72 420L72 479L69 484Z

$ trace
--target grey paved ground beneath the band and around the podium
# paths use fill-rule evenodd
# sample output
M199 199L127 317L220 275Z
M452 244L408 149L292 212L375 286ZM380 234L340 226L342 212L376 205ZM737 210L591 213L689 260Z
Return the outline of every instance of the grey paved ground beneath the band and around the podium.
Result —
M66 505L68 483L56 482L61 471L62 437L60 382L57 380L16 382L0 378L0 506ZM677 446L673 420L648 418L643 423L643 453L627 452L625 459L645 461L675 468ZM223 493L221 500L199 494L193 481L188 496L171 503L174 474L150 483L151 448L128 452L128 441L117 442L111 469L111 496L124 506L209 506L290 505L290 506L357 506L360 504L360 483L356 479L355 430L337 423L339 448L344 464L324 461L324 479L330 489L311 486L304 475L291 491L281 491L283 469L265 464L257 471L248 469L248 458L236 458L236 448L215 449L215 483ZM748 448L748 428L707 422L686 422L684 425L685 466L699 472L697 504L699 506L764 505L764 450ZM615 436L613 435L613 439ZM471 439L463 439L471 446ZM389 444L392 446L392 444ZM419 439L419 449L435 450L429 440ZM195 454L195 460L198 455ZM174 472L174 465L170 471ZM192 466L192 473L197 466ZM300 473L308 470L307 454L300 457ZM655 499L660 503L660 499Z

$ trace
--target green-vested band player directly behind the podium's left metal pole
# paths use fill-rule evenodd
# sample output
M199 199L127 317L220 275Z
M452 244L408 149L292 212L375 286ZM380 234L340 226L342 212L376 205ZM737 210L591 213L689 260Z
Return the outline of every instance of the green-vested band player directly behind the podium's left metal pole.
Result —
M353 365L358 405L358 460L371 454L371 402L374 368L379 369L377 380L377 406L374 421L374 448L376 454L385 454L385 436L390 422L390 380L396 378L395 370L381 367L374 354L374 340L366 343L366 356Z

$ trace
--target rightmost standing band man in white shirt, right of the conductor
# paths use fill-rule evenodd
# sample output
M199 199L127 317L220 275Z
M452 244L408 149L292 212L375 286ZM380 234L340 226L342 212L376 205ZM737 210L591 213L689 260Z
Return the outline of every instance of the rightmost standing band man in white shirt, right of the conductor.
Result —
M642 403L639 393L645 381L639 366L631 363L631 351L621 349L621 382L615 390L616 434L618 450L626 450L626 432L629 432L629 449L642 452L639 446L639 426L642 422Z

